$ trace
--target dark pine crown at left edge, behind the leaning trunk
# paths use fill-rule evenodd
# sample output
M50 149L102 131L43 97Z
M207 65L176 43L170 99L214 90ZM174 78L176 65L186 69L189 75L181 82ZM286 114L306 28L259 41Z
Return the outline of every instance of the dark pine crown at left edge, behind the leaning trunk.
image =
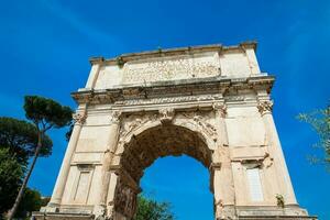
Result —
M29 157L33 156L37 145L37 129L26 121L0 117L0 148L9 148L22 165L28 164ZM53 142L44 135L41 156L52 153Z

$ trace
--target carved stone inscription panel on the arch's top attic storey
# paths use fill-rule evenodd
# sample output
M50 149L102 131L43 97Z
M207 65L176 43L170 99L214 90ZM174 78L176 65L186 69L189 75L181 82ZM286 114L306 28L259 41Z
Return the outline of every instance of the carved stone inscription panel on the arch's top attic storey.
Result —
M205 78L220 75L217 54L160 57L129 62L123 67L123 84Z

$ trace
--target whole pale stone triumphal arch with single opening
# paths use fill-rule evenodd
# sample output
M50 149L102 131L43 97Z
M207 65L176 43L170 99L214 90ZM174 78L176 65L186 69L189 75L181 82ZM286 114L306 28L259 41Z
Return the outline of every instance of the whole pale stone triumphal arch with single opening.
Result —
M256 44L91 58L73 134L36 219L131 220L143 170L186 154L210 172L215 219L312 219L299 208ZM191 210L198 211L198 210Z

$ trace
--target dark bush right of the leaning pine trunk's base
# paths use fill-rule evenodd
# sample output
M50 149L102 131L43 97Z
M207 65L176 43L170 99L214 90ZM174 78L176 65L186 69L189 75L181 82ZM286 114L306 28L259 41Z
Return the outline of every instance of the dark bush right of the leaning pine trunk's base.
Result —
M15 213L15 218L25 219L31 216L32 211L38 211L42 206L43 199L41 194L37 190L26 188Z

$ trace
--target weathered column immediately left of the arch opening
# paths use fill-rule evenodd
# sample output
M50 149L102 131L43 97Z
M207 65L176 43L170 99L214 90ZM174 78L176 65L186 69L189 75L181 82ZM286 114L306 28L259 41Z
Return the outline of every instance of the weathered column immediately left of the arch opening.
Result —
M107 208L107 195L110 185L111 177L111 161L113 154L116 153L119 131L120 131L120 111L113 111L110 119L110 129L109 129L109 139L107 143L107 151L102 160L102 173L101 173L101 183L100 183L100 194L98 196L98 201L96 202L94 213L96 216L105 216Z

